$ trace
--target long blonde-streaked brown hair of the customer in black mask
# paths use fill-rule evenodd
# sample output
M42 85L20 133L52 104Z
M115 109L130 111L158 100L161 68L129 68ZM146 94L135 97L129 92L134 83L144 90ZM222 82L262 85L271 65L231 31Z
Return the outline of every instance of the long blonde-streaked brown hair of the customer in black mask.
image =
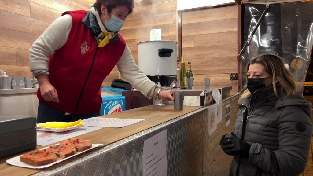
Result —
M254 58L251 58L245 68L246 73L246 82L248 81L248 70L249 66L252 64L261 64L265 67L265 70L269 75L272 76L272 84L274 88L275 95L277 97L282 96L283 91L286 93L285 97L294 95L297 91L297 87L295 85L294 79L289 72L289 70L285 67L285 59L278 56L276 53L274 54L261 54ZM276 90L276 80L280 83L281 91L277 92ZM247 87L247 84L244 86ZM249 97L251 95L250 91L246 89L241 95L242 98Z

